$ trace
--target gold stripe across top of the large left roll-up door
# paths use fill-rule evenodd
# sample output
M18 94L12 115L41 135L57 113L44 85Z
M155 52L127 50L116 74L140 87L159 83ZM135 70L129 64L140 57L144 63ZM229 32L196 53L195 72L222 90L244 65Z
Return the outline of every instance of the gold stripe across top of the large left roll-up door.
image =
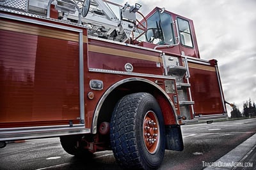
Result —
M26 34L33 34L36 36L46 36L49 38L57 38L57 39L64 39L68 41L79 41L78 34L73 34L70 32L63 32L63 31L56 31L52 29L45 29L42 27L36 27L32 25L24 25L24 24L17 24L14 22L6 22L0 20L0 29L8 30L8 31L15 31L15 32L22 32Z

